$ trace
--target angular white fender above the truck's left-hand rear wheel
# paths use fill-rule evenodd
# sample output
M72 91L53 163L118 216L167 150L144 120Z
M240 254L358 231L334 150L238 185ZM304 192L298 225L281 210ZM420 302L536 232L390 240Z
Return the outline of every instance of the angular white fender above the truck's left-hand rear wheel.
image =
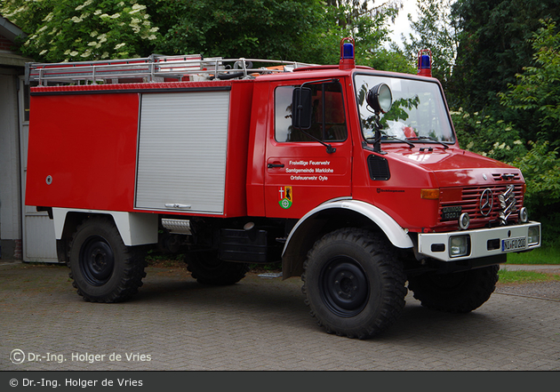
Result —
M112 216L126 246L157 243L157 215L154 213L81 210L74 208L52 208L54 233L57 240L62 238L68 212Z

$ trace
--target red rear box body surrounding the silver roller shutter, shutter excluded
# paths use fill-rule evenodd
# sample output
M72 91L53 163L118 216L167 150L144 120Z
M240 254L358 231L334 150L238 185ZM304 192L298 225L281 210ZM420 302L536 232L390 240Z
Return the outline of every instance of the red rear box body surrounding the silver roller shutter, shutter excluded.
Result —
M227 166L220 216L246 215L244 183L253 84L245 81L34 88L26 204L133 212L139 94L224 86L231 87L228 162L236 164Z

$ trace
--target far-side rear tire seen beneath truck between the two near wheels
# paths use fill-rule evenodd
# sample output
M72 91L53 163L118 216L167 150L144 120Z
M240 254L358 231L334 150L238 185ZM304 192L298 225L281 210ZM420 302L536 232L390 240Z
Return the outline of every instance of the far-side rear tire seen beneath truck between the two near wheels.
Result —
M228 285L243 279L249 264L220 260L217 252L192 252L187 269L199 284Z

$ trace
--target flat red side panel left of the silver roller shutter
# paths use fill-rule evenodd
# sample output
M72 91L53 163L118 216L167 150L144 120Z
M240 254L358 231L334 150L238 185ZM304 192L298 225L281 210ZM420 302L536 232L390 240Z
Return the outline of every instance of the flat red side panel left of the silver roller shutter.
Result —
M138 93L32 95L26 204L132 211L138 102Z

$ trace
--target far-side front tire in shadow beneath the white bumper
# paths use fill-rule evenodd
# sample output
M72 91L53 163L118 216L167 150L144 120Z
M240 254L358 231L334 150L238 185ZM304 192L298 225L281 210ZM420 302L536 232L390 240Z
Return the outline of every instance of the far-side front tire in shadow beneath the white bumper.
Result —
M412 276L408 288L422 306L448 313L468 313L486 302L498 282L499 266L453 274Z

